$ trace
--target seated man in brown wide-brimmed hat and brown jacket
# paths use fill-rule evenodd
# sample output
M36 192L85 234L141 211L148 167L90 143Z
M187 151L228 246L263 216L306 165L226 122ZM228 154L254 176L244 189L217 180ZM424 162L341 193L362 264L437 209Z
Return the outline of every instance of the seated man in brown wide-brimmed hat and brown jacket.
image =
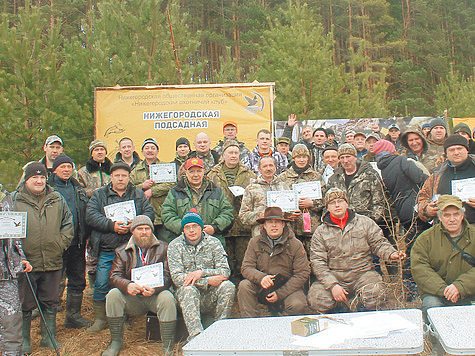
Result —
M258 295L262 289L269 290L265 302L273 312L283 308L288 315L304 314L307 301L303 287L310 268L302 242L286 225L290 220L284 219L278 207L266 208L264 217L257 221L262 224L260 234L249 241L241 267L245 278L238 290L241 316L259 315ZM276 275L285 283L275 284Z

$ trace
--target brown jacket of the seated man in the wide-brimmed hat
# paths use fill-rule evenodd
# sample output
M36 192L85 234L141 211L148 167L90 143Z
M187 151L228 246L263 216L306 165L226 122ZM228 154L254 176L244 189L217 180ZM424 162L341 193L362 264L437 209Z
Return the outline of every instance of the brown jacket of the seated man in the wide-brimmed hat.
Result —
M242 261L241 274L249 281L260 285L268 274L281 274L289 280L276 290L279 300L302 289L310 275L310 265L302 242L285 226L283 239L272 249L263 227L260 234L247 245Z

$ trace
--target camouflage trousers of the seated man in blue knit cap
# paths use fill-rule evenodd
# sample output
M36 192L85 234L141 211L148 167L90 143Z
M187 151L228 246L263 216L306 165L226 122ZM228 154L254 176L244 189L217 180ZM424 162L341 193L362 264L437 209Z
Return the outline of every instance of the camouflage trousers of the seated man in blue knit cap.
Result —
M196 286L178 288L175 295L183 312L189 339L204 330L201 314L213 313L213 321L228 318L235 294L236 287L231 281L224 281L217 287L208 286L206 290Z

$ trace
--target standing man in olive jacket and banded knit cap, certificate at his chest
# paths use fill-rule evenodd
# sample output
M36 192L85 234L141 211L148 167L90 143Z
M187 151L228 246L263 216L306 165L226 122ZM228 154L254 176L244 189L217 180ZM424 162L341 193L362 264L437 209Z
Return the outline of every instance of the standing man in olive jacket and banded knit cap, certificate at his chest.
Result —
M159 170L160 160L157 158L159 147L157 140L154 138L147 138L142 144L142 154L144 160L137 164L137 166L130 173L130 182L135 185L137 188L142 189L145 197L148 199L150 204L153 206L153 211L155 213L155 220L153 225L155 226L154 232L155 235L163 240L168 241L164 236L165 229L162 224L162 219L160 217L162 204L167 197L168 191L175 185L174 182L158 182L155 181L151 171ZM176 182L176 171L175 171L175 182ZM175 236L172 237L172 239Z

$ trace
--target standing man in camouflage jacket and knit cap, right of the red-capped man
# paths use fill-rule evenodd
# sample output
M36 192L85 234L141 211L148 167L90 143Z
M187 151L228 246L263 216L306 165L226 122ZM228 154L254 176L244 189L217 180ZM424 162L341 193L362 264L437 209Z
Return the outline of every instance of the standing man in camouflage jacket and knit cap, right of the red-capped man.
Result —
M220 187L227 200L234 209L234 223L231 229L225 233L226 251L229 255L229 264L233 276L237 276L241 270L241 262L246 252L251 230L243 225L239 219L239 209L241 209L242 194L233 194L230 187L240 187L244 190L251 179L256 178L256 174L240 161L239 142L227 140L223 146L223 160L211 169L208 179Z

